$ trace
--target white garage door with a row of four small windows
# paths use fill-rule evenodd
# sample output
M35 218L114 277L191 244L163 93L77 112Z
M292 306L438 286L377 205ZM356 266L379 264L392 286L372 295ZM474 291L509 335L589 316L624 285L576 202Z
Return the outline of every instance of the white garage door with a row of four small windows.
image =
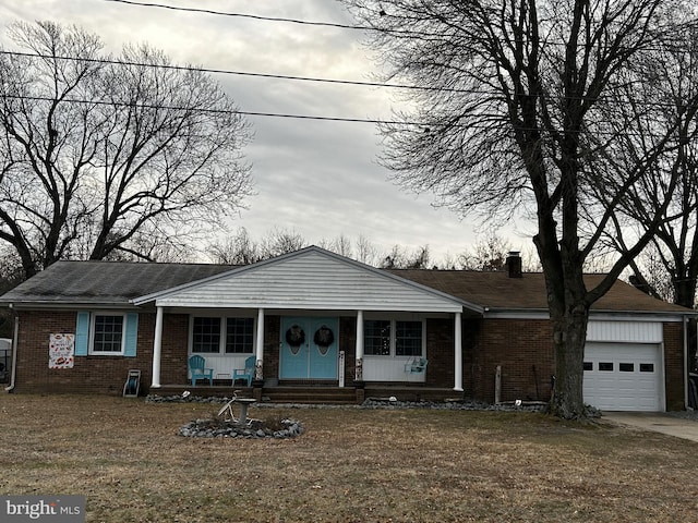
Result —
M660 346L587 343L585 402L606 411L663 411Z

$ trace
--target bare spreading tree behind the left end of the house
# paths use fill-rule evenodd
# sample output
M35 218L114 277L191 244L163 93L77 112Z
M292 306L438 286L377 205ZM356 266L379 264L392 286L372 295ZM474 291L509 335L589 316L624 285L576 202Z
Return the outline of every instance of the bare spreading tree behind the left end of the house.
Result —
M152 259L250 193L249 126L220 87L147 46L17 23L0 58L0 240L25 275L63 257Z

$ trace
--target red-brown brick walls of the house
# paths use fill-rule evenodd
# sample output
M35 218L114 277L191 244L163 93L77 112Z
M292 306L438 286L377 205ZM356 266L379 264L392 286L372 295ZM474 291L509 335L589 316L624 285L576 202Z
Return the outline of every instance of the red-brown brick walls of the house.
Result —
M141 370L142 392L152 379L155 313L139 314L139 342L135 357L77 356L72 369L48 368L49 335L75 332L76 312L20 312L19 350L16 352L17 392L81 392L120 396L129 369ZM265 377L278 376L279 316L265 317ZM426 321L428 387L454 386L453 320ZM542 400L551 392L555 372L546 320L465 319L464 389L465 394L494 401L495 373L502 366L502 401ZM160 382L185 384L189 316L166 314L163 329ZM345 381L354 377L356 317L339 319L339 350L345 351ZM664 325L665 390L667 410L684 408L683 326Z

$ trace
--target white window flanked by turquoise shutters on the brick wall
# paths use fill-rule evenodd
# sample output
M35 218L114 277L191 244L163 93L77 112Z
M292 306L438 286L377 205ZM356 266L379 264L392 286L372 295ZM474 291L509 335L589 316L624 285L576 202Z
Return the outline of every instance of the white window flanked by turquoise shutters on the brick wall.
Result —
M75 327L75 355L136 355L137 313L79 312Z

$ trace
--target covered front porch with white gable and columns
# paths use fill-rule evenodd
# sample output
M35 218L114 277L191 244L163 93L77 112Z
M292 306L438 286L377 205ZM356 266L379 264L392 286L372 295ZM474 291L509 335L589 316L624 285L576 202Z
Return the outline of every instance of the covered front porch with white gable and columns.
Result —
M317 247L133 303L156 312L152 393L189 384L186 360L198 355L214 379L212 391L222 387L221 392L252 361L254 368L245 373L251 382L234 388L246 386L260 399L287 388L285 393L299 398L320 389L339 389L337 394L349 398L341 391L349 389L354 401L366 390L388 394L384 387L414 389L411 398L423 396L422 389L458 396L462 316L482 314L457 297ZM174 316L186 325L185 340L181 330L177 335L166 327ZM174 354L184 353L186 360L172 370Z

